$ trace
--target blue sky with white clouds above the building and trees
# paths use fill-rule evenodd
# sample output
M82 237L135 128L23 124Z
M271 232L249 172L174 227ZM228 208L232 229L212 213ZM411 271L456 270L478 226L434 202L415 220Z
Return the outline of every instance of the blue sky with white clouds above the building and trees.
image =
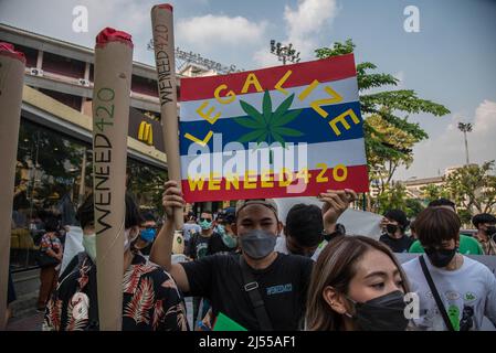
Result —
M93 47L113 26L133 35L134 60L154 64L149 0L0 0L0 22ZM430 138L414 148L414 162L394 180L443 174L465 162L460 121L472 122L471 162L496 159L496 0L179 0L176 46L224 65L253 69L281 64L272 39L293 43L303 61L314 50L352 39L357 63L400 79L397 88L446 106L451 114L411 115ZM73 10L88 13L87 32L75 32ZM408 6L419 9L419 32L407 32ZM394 87L388 87L394 89Z

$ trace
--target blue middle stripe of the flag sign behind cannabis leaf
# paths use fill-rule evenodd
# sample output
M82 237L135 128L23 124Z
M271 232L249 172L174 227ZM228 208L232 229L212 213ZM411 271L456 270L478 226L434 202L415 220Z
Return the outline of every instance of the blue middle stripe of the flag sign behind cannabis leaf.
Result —
M285 128L296 129L300 131L303 136L299 137L283 136L284 140L286 142L293 143L298 142L317 143L317 142L342 141L363 137L362 119L360 114L359 101L347 103L341 105L330 105L321 108L329 114L327 118L323 118L313 108L303 109L296 119L284 126ZM346 117L346 121L349 124L350 128L349 130L347 130L345 129L342 124L338 122L337 128L341 133L337 136L333 130L333 128L330 127L329 121L331 121L335 117L341 115L348 109L353 110L356 116L360 119L360 122L355 124L351 117L349 116ZM303 119L305 119L304 124L302 121ZM182 121L179 122L179 131L180 131L179 137L180 154L186 156L188 154L188 148L190 147L190 145L194 143L191 140L184 138L186 133L190 133L193 137L198 138L199 140L203 140L203 138L209 133L209 131L212 131L213 133L221 133L221 131L224 131L222 135L222 146L225 146L229 142L239 141L241 137L243 137L245 133L252 132L254 130L241 126L234 121L234 118L230 118L230 119L219 119L213 125L207 120L189 121L189 122ZM274 141L271 140L267 142L272 143ZM212 151L213 139L210 139L208 146ZM249 142L244 142L243 146L247 149Z

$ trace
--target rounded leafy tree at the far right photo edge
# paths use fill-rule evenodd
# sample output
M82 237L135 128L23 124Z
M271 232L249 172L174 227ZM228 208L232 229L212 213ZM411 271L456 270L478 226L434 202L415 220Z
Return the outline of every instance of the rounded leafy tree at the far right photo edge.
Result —
M465 165L446 178L446 191L458 207L471 214L493 213L496 210L496 176L492 174L494 162Z

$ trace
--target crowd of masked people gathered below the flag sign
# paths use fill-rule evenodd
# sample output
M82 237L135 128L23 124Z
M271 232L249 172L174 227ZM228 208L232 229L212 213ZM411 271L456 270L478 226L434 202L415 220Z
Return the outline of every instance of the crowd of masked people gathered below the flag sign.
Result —
M496 217L478 214L462 234L454 203L436 200L410 222L381 221L379 240L338 223L357 195L320 193L321 207L294 205L283 224L271 199L218 213L184 213L183 260L175 260L177 183L165 184L165 218L126 194L123 330L212 330L228 317L246 330L481 330L496 325L496 278L466 255L496 255ZM77 210L81 252L61 269L68 227L44 220L38 310L44 330L98 330L93 195ZM398 253L418 254L403 264ZM72 253L73 254L73 253ZM177 254L176 254L177 255ZM412 296L414 295L414 296ZM186 297L193 297L193 321Z

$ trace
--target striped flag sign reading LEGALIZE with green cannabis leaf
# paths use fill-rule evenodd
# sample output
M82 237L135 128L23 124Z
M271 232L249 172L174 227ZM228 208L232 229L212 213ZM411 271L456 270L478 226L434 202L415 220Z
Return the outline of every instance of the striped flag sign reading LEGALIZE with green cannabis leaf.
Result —
M187 202L368 191L352 54L181 81Z

